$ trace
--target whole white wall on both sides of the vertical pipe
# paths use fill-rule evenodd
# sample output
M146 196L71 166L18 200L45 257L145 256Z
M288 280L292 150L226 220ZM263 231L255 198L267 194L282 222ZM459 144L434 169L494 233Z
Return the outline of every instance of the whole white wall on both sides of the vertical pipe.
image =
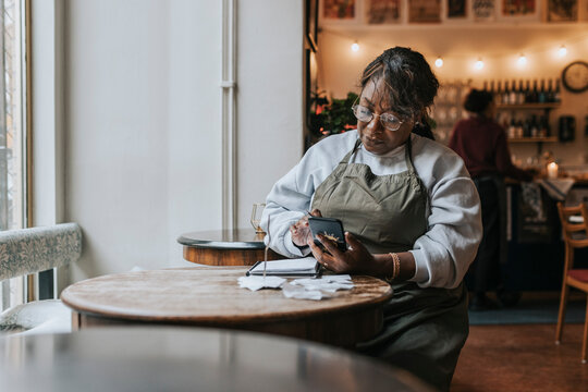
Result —
M237 2L245 226L302 154L302 4L280 4ZM220 1L65 2L65 220L84 230L73 281L186 266L176 237L221 228L221 14Z

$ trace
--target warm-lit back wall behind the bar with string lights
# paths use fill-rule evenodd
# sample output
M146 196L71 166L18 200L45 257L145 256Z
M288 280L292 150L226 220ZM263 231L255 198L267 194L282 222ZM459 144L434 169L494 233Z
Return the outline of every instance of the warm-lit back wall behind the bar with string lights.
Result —
M574 60L588 59L588 24L473 24L429 26L367 26L326 25L319 34L319 86L333 97L341 98L347 91L358 91L358 78L363 69L384 49L393 46L411 47L420 51L432 65L438 56L444 59L441 69L433 68L443 81L467 81L481 87L485 79L534 79L560 77L563 68ZM358 52L350 50L357 40ZM556 56L565 44L568 54ZM518 68L516 60L525 53L528 63ZM485 66L473 65L478 57ZM571 94L562 90L562 107L552 111L551 128L556 133L556 120L562 114L576 117L576 140L566 144L546 144L564 164L584 162L588 138L584 137L585 117L588 115L588 91ZM535 144L512 144L511 152L523 162L537 154Z

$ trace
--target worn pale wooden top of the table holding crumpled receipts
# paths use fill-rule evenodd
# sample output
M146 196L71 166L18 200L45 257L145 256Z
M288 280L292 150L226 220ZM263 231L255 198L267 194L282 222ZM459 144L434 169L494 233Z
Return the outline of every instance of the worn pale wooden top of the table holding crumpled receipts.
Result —
M385 302L390 285L354 277L355 287L326 301L286 298L281 290L253 292L237 279L247 268L173 268L109 274L74 283L61 293L71 308L108 317L199 322L264 321L303 317Z

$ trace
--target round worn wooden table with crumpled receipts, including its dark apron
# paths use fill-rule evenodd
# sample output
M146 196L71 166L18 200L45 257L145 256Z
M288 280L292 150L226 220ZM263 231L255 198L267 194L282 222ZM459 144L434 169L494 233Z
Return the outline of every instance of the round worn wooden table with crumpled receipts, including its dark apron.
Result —
M375 336L383 326L388 283L353 277L355 287L331 298L286 298L281 290L252 292L237 284L244 267L136 271L68 286L61 299L74 310L73 328L112 323L167 323L269 332L340 346Z

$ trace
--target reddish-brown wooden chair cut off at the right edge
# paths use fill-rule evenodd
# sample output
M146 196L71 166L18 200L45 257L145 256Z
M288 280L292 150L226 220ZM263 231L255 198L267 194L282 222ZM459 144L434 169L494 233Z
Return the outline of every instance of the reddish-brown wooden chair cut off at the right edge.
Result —
M588 295L588 269L574 268L574 250L576 248L588 247L588 208L585 204L575 207L564 207L558 203L558 211L562 223L563 237L565 242L565 261L562 283L562 295L560 299L560 313L558 316L558 328L555 330L555 344L560 344L565 318L565 307L569 286L581 290ZM571 221L571 217L573 221ZM579 218L583 218L580 221ZM586 364L588 345L588 302L586 307L586 320L584 323L584 340L581 346L581 363Z

